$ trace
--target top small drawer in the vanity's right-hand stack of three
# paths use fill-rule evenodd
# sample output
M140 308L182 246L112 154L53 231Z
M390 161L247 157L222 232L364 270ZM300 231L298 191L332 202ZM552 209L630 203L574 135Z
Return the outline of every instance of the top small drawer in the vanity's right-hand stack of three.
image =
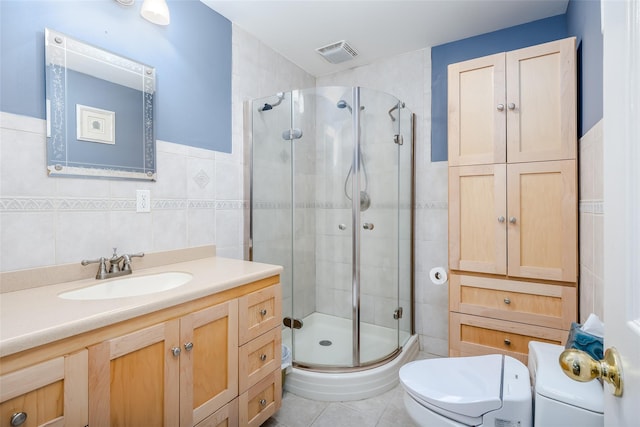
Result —
M282 296L280 285L269 286L252 292L238 300L239 344L252 339L280 325L282 313Z

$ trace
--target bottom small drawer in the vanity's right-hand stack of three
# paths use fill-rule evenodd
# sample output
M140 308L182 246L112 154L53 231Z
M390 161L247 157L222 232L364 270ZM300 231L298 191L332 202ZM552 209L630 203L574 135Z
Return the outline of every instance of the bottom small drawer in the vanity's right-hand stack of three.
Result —
M282 376L278 369L240 395L240 426L260 426L281 404Z

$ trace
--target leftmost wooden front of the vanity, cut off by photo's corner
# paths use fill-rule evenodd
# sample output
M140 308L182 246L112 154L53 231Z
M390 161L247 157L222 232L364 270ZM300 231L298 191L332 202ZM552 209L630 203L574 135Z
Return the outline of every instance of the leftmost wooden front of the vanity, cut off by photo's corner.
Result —
M87 351L58 357L0 377L0 426L88 424Z

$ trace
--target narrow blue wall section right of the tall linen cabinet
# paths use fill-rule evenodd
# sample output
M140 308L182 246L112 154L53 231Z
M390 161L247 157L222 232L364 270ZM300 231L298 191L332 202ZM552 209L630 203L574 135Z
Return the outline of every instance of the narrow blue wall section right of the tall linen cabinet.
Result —
M567 8L569 34L578 39L578 135L602 119L602 31L600 1L572 0Z

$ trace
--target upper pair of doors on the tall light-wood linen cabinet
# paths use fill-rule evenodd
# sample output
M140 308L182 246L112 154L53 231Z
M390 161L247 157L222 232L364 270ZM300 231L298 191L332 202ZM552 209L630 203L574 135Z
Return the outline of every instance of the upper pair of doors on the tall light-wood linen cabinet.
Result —
M449 166L575 159L575 38L451 64Z

